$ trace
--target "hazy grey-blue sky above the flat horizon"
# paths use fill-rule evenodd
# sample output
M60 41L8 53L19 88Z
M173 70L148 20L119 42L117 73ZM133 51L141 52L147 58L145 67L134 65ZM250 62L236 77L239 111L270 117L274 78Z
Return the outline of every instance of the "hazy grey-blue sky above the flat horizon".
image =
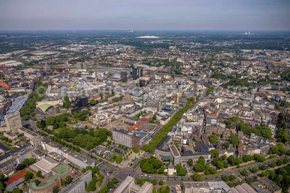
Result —
M289 0L12 0L0 30L290 30Z

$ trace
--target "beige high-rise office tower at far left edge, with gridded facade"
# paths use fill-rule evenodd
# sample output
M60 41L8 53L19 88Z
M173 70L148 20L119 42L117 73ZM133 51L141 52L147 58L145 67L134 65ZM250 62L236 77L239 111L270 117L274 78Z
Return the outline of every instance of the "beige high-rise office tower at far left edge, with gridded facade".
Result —
M21 117L19 112L5 115L6 131L18 133L18 129L22 127Z

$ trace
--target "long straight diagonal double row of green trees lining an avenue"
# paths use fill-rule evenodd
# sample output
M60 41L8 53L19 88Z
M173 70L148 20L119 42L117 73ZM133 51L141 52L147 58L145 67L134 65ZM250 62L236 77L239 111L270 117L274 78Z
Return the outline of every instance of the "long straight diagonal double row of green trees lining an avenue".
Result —
M193 103L194 103L194 98L187 98L186 105L183 108L181 108L179 111L177 111L172 116L170 121L168 121L168 123L166 123L162 127L161 133L156 134L154 139L152 141L150 141L149 144L143 145L142 149L153 154L157 145L165 138L165 136L171 130L173 125L176 125L177 121L180 120L182 114L184 114L187 110L189 110L189 108L191 108Z

